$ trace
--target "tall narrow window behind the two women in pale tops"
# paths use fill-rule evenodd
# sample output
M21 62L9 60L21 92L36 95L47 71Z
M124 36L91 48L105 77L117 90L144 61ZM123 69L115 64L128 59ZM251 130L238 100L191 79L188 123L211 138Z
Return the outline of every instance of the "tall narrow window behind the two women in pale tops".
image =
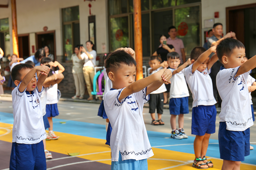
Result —
M80 44L79 6L63 8L63 60L71 60L74 47Z

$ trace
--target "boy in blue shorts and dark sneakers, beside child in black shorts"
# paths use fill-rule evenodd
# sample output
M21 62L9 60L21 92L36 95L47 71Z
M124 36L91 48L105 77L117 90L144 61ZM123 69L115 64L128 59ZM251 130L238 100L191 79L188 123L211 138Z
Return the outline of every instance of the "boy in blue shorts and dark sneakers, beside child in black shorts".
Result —
M169 110L171 114L170 123L172 127L171 138L185 139L188 135L185 133L184 127L184 114L189 113L188 109L188 87L185 80L184 69L191 64L190 58L180 67L180 56L177 52L167 54L167 62L169 69L172 72L170 79L170 102ZM179 115L178 123L179 129L176 127L176 116Z

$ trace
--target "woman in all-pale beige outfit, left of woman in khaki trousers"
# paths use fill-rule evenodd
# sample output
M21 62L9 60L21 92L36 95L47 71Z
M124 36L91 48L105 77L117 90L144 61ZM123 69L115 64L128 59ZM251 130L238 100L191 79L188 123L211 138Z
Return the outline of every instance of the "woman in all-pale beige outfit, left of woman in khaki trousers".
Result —
M72 73L76 86L76 95L72 99L83 99L84 95L84 78L83 78L83 63L84 60L78 58L80 46L77 45L74 48L75 54L72 54L71 59L73 61Z

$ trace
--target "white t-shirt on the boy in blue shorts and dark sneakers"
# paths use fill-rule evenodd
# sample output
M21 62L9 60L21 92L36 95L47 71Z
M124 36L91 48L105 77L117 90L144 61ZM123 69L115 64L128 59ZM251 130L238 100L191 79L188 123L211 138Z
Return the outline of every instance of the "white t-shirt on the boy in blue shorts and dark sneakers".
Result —
M169 68L169 70L173 73L174 70ZM171 81L171 86L170 86L170 99L171 98L182 98L182 97L188 97L189 92L188 92L188 86L185 80L185 75L184 75L184 70L180 71L179 73L174 74L170 81Z

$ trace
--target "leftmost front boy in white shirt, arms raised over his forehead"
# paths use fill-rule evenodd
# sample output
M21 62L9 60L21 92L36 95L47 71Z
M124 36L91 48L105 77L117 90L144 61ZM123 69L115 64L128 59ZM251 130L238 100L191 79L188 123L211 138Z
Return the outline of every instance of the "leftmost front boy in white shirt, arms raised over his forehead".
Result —
M47 66L18 64L11 76L17 87L12 91L13 140L10 170L46 169L43 139L46 138L41 100L42 85L49 72ZM41 75L36 81L36 72Z

